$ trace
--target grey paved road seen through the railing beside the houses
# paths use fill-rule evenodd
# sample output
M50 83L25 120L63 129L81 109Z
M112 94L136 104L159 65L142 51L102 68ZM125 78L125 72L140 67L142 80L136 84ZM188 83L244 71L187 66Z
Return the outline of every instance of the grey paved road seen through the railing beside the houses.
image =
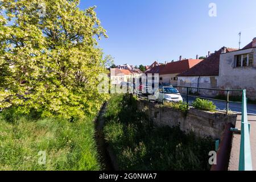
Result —
M195 100L195 97L189 97L188 101L189 104L192 104L192 102ZM186 101L186 98L183 97L183 100ZM210 100L210 98L209 98ZM211 100L214 105L217 106L218 110L226 110L226 102L225 101L213 101ZM229 103L229 110L232 110L237 113L241 113L242 111L242 104L237 102L230 102ZM256 115L256 105L255 104L247 104L247 113L251 115Z

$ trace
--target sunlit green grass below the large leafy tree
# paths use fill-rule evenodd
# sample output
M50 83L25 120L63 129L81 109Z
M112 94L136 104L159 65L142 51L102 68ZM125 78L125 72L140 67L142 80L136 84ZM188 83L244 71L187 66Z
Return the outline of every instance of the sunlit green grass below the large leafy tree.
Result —
M65 119L0 115L0 170L100 170L94 116ZM40 165L39 151L46 152Z

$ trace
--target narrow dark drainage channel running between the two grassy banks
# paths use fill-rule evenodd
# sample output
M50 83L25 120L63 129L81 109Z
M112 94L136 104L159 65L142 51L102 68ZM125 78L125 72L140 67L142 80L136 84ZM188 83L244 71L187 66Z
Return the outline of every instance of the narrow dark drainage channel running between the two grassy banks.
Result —
M105 171L114 171L114 165L112 164L112 158L109 155L109 150L108 150L108 144L106 143L104 139L104 124L105 124L105 119L104 119L104 114L106 111L106 106L107 103L101 107L100 113L98 114L98 117L96 118L95 122L95 138L96 138L96 143L97 143L97 149L100 154L100 162L103 164L104 170Z

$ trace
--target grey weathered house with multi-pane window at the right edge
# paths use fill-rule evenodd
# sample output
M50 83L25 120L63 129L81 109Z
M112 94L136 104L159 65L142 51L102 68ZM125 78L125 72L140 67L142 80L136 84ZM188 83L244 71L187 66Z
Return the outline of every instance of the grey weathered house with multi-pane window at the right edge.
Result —
M256 38L237 51L229 52L222 48L219 86L246 89L247 97L256 100Z

